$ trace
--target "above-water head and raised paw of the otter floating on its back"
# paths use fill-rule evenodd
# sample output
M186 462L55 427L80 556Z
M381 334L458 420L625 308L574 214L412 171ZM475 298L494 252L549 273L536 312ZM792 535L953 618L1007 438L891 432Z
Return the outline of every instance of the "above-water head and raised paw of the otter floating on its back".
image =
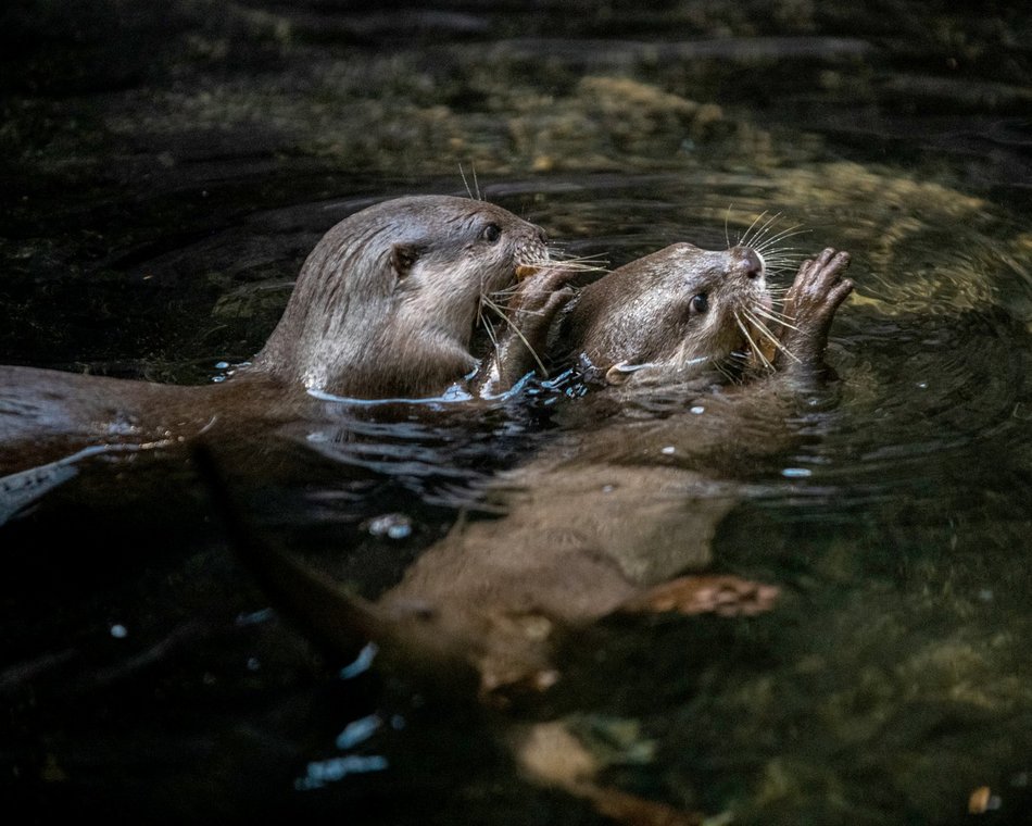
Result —
M848 263L848 253L831 249L804 262L776 311L759 252L675 243L586 287L566 306L553 347L577 354L609 386L669 384L713 372L738 376L786 362L825 370L829 314L853 289L839 277ZM815 272L834 283L815 286ZM818 301L814 290L827 296ZM814 312L822 317L806 315Z

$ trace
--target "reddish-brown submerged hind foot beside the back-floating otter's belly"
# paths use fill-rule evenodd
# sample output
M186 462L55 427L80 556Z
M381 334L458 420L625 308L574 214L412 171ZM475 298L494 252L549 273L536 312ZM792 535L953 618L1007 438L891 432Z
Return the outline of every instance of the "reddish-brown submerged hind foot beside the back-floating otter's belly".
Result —
M754 616L770 611L780 593L773 585L737 576L682 576L633 598L625 611L717 616Z

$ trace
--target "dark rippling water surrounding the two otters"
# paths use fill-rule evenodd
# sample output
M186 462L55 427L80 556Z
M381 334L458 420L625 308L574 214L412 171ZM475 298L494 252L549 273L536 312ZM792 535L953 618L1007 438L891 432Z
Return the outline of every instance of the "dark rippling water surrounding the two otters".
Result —
M779 214L801 254L849 250L856 281L836 403L714 468L738 504L712 568L783 599L605 621L554 689L456 711L375 661L342 678L268 611L181 458L93 458L0 528L0 783L24 822L602 823L496 737L561 718L609 743L607 783L712 823L1032 818L1032 23L576 5L14 4L0 355L212 380L323 231L463 192L460 164L613 265ZM373 596L577 403L331 418L242 485L248 512Z

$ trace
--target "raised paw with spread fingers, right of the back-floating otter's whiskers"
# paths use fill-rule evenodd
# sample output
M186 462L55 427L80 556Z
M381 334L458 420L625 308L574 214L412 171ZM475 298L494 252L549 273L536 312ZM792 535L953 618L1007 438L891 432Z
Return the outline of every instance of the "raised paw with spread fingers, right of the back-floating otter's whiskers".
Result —
M803 262L785 297L783 312L788 321L776 366L821 365L831 322L853 291L853 281L842 276L848 266L849 253L830 248Z

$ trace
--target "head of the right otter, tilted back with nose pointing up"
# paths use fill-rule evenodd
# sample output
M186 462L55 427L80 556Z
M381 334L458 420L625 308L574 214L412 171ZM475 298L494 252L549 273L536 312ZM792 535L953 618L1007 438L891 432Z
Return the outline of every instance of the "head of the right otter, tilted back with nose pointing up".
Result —
M733 353L759 354L770 317L764 260L675 243L615 270L582 291L563 338L606 384L690 378Z

